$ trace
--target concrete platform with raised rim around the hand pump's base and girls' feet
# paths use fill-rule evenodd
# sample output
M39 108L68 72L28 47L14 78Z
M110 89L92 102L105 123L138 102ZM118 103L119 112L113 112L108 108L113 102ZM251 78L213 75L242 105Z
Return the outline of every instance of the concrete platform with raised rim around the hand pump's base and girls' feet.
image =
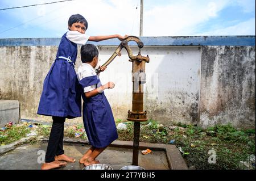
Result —
M74 141L76 140L76 141ZM114 141L97 159L101 163L106 163L114 170L119 170L123 166L131 165L133 158L133 149L131 141ZM170 170L170 169L188 169L181 154L176 153L176 146L174 145L160 145L160 144L146 144L140 143L142 151L144 148L150 148L152 153L143 155L139 152L139 166L146 170ZM175 148L174 148L175 147ZM70 139L65 141L65 154L76 158L75 163L68 163L63 170L81 170L84 166L78 161L82 154L90 148L86 141L77 141L77 139ZM38 170L41 163L40 156L43 150L47 149L47 141L42 141L39 144L29 145L24 144L18 146L0 156L0 169L28 169ZM177 150L179 151L179 150ZM17 164L18 163L18 164Z

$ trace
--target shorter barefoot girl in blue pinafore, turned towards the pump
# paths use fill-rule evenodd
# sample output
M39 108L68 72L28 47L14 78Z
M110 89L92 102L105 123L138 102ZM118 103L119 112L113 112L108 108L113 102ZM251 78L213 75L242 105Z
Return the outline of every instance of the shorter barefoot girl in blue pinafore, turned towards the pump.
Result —
M82 119L91 148L80 159L85 166L99 163L96 157L118 138L117 128L111 107L104 94L104 89L113 89L114 83L101 85L94 68L98 64L98 50L92 44L81 47L82 65L77 70L81 86ZM101 68L104 71L106 68Z

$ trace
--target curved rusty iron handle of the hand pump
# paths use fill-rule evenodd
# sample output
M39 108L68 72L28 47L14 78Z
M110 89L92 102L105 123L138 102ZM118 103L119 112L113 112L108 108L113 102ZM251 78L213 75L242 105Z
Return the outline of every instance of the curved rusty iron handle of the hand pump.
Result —
M130 49L130 47L128 45L129 41L135 41L137 43L137 45L139 47L139 54L138 54L138 56L134 56L133 52L131 52L131 49ZM143 42L137 36L128 36L128 37L126 37L125 40L123 40L119 44L119 46L117 47L117 49L115 49L115 52L112 54L112 56L109 58L109 60L106 61L102 66L108 66L114 60L114 58L116 56L121 56L120 52L121 52L122 48L125 48L127 50L128 56L129 56L129 58L131 60L137 59L137 60L141 60L141 61L145 60L146 62L148 62L149 61L149 57L148 56L147 57L143 57L140 54L141 48L143 48L143 46L144 46ZM98 73L98 71L100 71L100 68L96 69L95 71L96 71L96 73Z

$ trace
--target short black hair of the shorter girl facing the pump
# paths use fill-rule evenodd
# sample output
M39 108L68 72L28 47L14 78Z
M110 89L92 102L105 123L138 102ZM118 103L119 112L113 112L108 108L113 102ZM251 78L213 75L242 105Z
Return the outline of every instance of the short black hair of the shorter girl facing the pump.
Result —
M98 56L98 49L93 44L85 44L81 47L81 61L83 63L92 62L93 58Z

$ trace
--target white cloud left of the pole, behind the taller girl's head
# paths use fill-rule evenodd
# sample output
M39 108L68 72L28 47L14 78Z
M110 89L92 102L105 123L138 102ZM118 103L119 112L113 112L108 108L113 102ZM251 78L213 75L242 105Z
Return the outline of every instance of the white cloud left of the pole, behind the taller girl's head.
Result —
M67 31L69 16L81 14L88 21L88 31L86 32L88 35L115 33L124 35L132 33L134 19L139 19L139 11L134 14L137 1L111 0L109 3L103 0L76 0L16 9L12 14L16 19L20 19L22 23L26 23L23 28L28 28L27 31L33 31L32 28L42 27L46 30L55 31L56 33L54 34L64 33ZM23 5L36 3L43 2L26 0ZM18 6L13 5L13 2L9 4L10 6ZM138 30L138 26L138 23L136 24L135 22L133 29ZM138 31L134 32L138 35Z

